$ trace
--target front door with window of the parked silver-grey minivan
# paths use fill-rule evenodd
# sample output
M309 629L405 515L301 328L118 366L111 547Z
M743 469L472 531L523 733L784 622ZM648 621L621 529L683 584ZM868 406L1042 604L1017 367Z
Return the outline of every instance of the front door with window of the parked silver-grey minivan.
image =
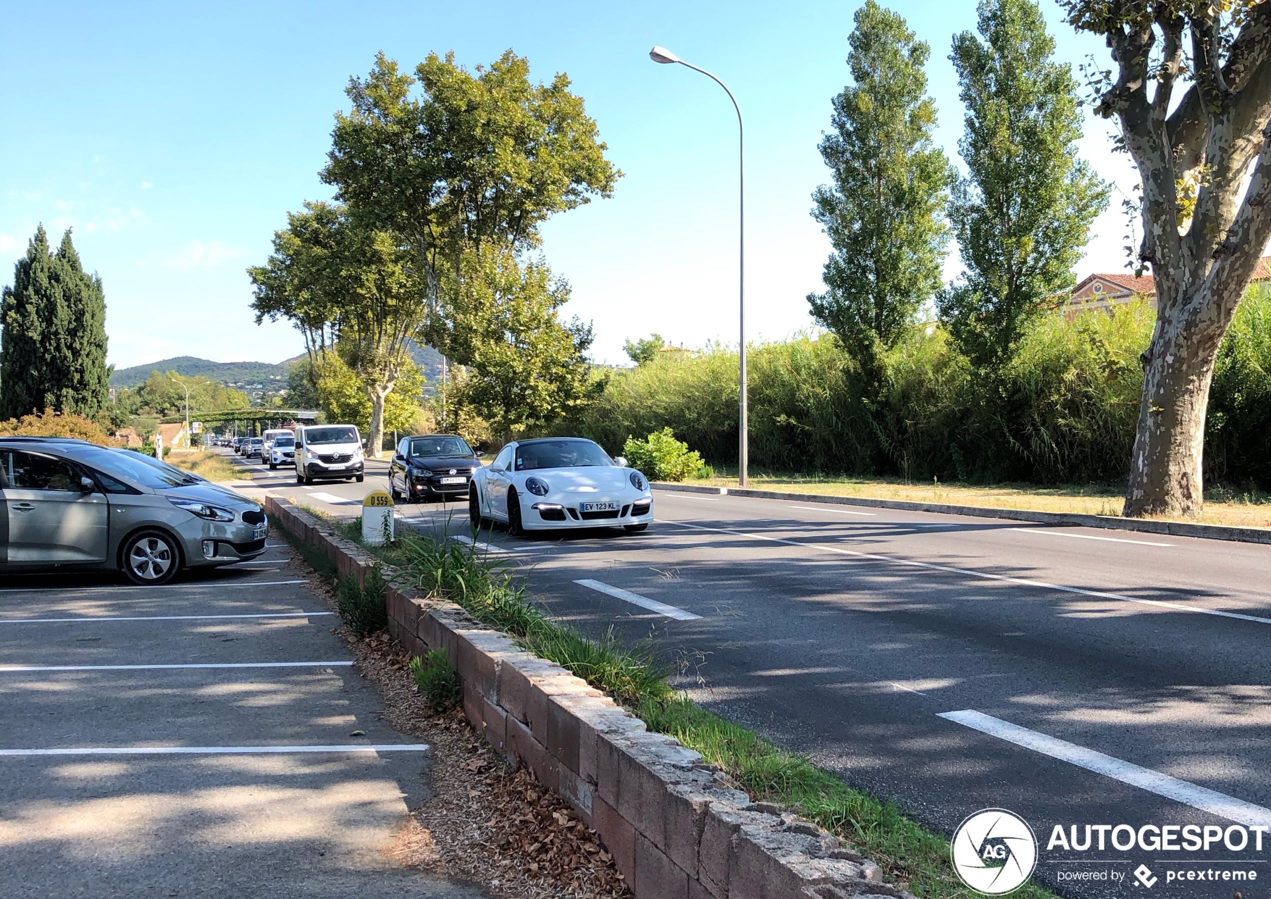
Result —
M104 562L109 504L70 462L0 450L10 565Z

